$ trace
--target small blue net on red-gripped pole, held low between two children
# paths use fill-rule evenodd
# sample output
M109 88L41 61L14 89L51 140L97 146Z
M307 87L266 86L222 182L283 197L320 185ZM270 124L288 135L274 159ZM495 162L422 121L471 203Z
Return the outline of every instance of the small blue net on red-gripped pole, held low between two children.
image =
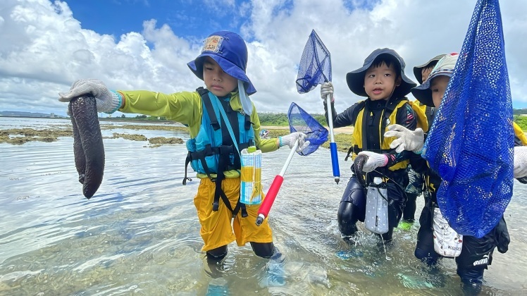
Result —
M309 146L299 153L300 155L306 156L315 152L321 144L328 140L328 130L297 104L291 103L287 112L287 119L289 120L290 131L304 132L307 136L306 141L309 141Z

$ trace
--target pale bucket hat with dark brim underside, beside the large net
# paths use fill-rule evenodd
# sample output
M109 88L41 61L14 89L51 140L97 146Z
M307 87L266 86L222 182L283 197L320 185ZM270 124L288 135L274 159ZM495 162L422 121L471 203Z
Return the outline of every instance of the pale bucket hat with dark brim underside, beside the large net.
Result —
M432 72L430 72L428 79L422 85L411 89L411 94L413 94L422 104L435 107L432 99L432 90L430 90L430 82L440 75L452 77L458 57L458 54L446 54L443 56L432 69Z

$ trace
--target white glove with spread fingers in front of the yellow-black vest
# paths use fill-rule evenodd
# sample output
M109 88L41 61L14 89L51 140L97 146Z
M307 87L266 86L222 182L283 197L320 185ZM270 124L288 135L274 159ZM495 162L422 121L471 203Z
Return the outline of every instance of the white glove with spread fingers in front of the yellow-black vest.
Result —
M421 128L409 130L398 124L389 125L384 137L397 137L390 144L390 148L395 148L397 153L401 153L403 150L421 153L425 142L425 134Z

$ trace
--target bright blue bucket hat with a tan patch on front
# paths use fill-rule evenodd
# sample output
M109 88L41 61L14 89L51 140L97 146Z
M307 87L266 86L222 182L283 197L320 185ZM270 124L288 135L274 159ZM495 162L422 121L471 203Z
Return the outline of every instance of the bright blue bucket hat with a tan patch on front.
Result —
M254 94L256 89L245 74L247 68L247 46L240 35L229 31L213 32L205 39L202 54L187 63L192 73L203 80L203 62L206 56L213 58L223 72L244 83L245 92Z

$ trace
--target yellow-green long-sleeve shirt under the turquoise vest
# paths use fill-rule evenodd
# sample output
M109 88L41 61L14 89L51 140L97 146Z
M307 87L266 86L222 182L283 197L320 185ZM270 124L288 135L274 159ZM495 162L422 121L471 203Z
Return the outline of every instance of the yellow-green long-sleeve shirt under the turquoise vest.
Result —
M190 137L194 138L202 125L203 104L202 97L198 92L176 92L173 94L162 94L160 92L118 91L125 97L125 105L119 111L123 113L140 113L149 116L163 116L170 121L188 125ZM242 111L242 104L238 92L231 93L230 106L235 111ZM276 138L260 138L260 118L256 113L256 107L252 104L251 114L252 128L254 130L254 142L261 152L272 152L278 149ZM198 178L206 178L205 174L197 174ZM240 171L225 171L225 178L240 177Z

